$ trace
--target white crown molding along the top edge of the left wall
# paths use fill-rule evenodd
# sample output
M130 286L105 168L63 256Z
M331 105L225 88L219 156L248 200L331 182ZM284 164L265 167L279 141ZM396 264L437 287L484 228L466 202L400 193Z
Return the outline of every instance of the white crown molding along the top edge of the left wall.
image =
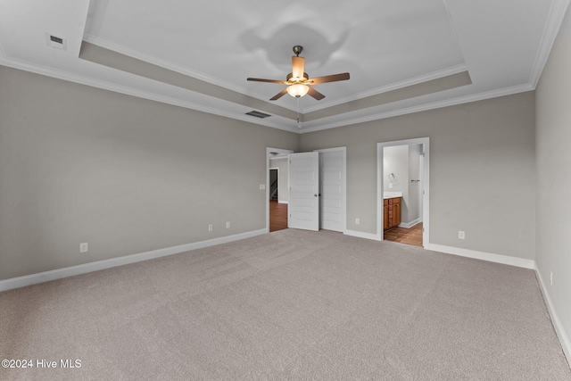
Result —
M118 85L112 82L103 81L101 79L92 79L79 74L72 74L63 70L55 70L46 66L37 65L35 63L23 62L20 60L15 60L12 58L4 57L0 63L4 66L11 67L13 69L19 69L24 71L33 72L36 74L45 75L46 77L52 77L55 79L62 79L80 85L86 85L89 87L97 87L103 90L109 90L115 93L120 93L124 95L137 96L139 98L148 99L151 101L159 102L161 104L171 104L178 107L183 107L186 109L196 110L199 112L206 112L214 115L219 115L234 120L243 120L245 122L259 124L261 126L266 126L270 128L282 129L288 132L299 133L299 128L296 126L283 126L277 123L271 123L269 120L257 120L248 115L234 112L225 112L218 108L204 106L203 104L195 104L194 102L182 101L180 99L172 98L170 96L158 95L151 92L143 91L137 88ZM275 116L275 115L272 115Z

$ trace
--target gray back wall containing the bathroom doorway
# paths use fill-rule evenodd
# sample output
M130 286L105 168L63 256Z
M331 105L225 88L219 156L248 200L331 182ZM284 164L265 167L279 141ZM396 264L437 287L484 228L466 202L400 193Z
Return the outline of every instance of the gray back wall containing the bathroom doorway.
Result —
M534 260L534 120L527 92L303 134L301 150L347 147L347 228L375 234L377 142L430 137L430 242Z

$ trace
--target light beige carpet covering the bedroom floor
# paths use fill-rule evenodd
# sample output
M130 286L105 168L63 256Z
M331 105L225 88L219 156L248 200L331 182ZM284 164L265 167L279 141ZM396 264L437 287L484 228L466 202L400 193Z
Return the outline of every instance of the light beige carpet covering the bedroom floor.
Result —
M293 229L1 293L0 357L58 362L1 379L571 380L532 270Z

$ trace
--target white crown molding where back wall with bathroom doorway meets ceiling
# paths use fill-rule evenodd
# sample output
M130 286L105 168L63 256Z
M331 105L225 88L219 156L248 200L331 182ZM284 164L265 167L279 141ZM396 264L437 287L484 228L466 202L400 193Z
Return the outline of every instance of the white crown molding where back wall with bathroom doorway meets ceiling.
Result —
M401 115L406 115L406 114L415 113L415 112L426 112L429 110L440 109L443 107L453 106L453 105L457 105L457 104L469 104L471 102L483 101L485 99L497 98L497 97L505 96L505 95L514 95L514 94L518 94L518 93L525 93L526 91L532 91L532 90L534 90L534 87L532 87L529 84L518 85L518 86L514 86L514 87L506 87L506 88L501 88L498 90L485 91L483 93L478 93L478 94L473 94L473 95L459 96L457 98L446 99L443 101L433 102L431 104L420 104L418 106L407 107L404 109L393 110L390 112L380 112L380 113L377 113L374 115L368 115L368 116L361 117L361 118L354 118L354 119L343 120L343 121L339 121L339 122L326 123L326 124L323 124L321 126L316 126L316 127L302 128L300 130L300 134L306 134L309 132L316 132L316 131L321 131L321 130L330 129L330 128L351 126L353 124L365 123L365 122L373 121L373 120L382 120L382 119L387 119L387 118L393 118L395 116L401 116Z

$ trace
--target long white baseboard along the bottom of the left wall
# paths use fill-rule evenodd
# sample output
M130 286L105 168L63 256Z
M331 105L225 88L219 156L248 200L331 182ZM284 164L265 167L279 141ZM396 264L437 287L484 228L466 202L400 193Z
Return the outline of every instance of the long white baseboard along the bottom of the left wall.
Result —
M209 247L215 244L226 244L228 242L238 241L240 239L250 238L252 236L260 236L266 233L267 229L253 230L233 236L221 236L219 238L209 239L207 241L194 242L192 244L181 244L178 246L153 250L151 252L131 254L119 258L112 258L110 260L95 261L63 269L54 269L50 271L39 272L37 274L26 275L23 277L12 277L11 279L0 280L0 292L12 290L13 288L18 287L36 285L37 283L48 282L50 280L61 279L63 277L73 277L100 269L110 269L129 263L153 260L155 258L166 257L168 255L185 253L190 250L202 249L203 247Z

